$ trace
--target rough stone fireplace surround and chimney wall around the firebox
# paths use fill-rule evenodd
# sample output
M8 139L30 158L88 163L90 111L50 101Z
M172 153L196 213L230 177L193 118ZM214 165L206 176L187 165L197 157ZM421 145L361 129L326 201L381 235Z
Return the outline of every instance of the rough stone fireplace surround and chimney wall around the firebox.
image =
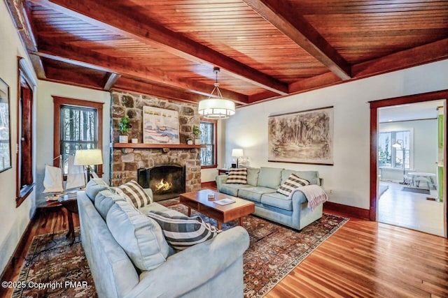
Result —
M130 94L121 91L112 91L111 105L111 185L118 186L134 179L139 180L139 169L153 169L159 165L179 165L182 167L185 179L183 192L198 191L201 189L201 161L200 148L187 146L186 139L192 133L193 126L200 125L200 115L197 106L189 103L174 103L141 94ZM181 144L178 147L164 147L162 145L151 147L142 144L143 140L143 107L161 107L179 112L179 133ZM129 137L136 137L137 144L126 144L125 147L116 147L118 142L118 123L123 116L130 118L132 124ZM152 187L151 187L152 188ZM154 189L153 189L154 191ZM165 198L158 198L165 200Z

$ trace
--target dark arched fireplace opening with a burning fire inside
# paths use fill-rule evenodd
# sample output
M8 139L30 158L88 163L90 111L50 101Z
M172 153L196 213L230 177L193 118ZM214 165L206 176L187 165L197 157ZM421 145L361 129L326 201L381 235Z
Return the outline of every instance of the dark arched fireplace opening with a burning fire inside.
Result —
M139 184L151 188L154 201L167 200L185 193L185 167L181 165L156 165L137 171Z

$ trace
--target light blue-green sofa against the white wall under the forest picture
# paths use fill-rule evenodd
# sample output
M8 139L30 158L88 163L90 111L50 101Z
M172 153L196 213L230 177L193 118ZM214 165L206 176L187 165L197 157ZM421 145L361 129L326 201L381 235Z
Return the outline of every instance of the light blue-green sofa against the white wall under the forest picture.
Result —
M216 186L220 193L250 200L255 203L256 216L302 230L322 217L322 204L311 210L307 198L300 191L292 198L277 193L276 190L288 179L291 173L307 179L311 184L321 185L317 171L294 171L277 167L247 167L247 184L228 184L228 175L216 176Z

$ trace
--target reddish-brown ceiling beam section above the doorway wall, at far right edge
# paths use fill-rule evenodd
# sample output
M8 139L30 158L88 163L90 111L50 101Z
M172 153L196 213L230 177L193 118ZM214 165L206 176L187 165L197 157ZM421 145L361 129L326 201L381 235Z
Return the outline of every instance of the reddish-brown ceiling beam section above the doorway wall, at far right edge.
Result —
M369 77L381 73L427 64L448 58L448 38L433 43L402 50L385 57L365 61L352 66L355 77Z

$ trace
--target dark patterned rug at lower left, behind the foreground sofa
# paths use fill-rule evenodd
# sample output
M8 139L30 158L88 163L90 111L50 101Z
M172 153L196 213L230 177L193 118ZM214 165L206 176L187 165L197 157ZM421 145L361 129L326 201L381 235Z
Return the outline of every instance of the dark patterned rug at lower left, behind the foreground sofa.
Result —
M79 228L71 245L66 232L34 236L12 298L97 297Z

